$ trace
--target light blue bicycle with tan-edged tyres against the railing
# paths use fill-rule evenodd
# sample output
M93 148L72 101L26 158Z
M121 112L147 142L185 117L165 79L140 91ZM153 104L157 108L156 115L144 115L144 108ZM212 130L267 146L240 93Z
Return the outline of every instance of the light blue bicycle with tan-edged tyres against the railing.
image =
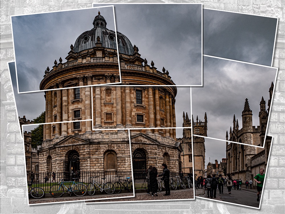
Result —
M62 196L64 194L65 189L67 189L67 192L70 195L72 195L72 193L74 193L74 195L76 196L85 195L87 192L86 185L84 185L83 183L75 183L75 180L78 178L73 178L73 179L74 179L73 182L68 182L69 187L66 187L66 185L64 185L65 182L63 179L60 180L60 183L52 185L50 187L50 194L52 195L52 197L58 198Z

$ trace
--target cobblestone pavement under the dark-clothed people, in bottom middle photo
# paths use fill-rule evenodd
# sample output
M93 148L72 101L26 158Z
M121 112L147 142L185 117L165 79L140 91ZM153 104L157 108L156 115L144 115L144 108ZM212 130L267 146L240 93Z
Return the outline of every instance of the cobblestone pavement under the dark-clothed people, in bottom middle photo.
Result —
M158 196L151 196L144 193L135 193L135 197L120 198L120 199L108 199L108 200L95 200L86 201L89 202L110 202L110 201L149 201L149 200L177 200L177 199L194 199L193 189L180 189L180 190L170 190L170 195L164 196L164 191L158 192Z

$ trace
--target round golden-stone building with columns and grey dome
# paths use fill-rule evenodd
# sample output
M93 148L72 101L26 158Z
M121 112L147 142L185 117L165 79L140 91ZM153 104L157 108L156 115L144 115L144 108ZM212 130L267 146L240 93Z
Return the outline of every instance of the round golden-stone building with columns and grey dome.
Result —
M45 94L51 124L44 126L39 147L40 171L130 170L129 134L123 129L144 128L131 130L133 168L166 163L178 172L182 148L175 129L158 129L176 127L177 88L167 70L148 65L125 35L117 32L117 40L115 35L98 12L93 28L71 45L67 62L60 58L46 70L40 88L64 89ZM120 82L118 62L123 86L76 87Z

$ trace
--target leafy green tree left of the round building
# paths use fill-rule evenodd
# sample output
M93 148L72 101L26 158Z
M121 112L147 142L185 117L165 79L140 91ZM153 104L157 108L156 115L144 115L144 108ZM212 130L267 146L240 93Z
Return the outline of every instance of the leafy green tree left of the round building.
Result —
M46 112L42 112L40 116L34 119L34 124L45 123L46 121ZM44 140L44 125L38 125L32 131L32 148L42 145Z

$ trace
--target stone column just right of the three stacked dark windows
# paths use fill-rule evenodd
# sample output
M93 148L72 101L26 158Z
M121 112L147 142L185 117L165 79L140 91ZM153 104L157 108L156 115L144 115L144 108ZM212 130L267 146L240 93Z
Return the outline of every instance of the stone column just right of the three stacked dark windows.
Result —
M87 85L92 85L92 74L85 76L87 79ZM91 116L91 86L85 88L85 133L92 133L92 116Z

